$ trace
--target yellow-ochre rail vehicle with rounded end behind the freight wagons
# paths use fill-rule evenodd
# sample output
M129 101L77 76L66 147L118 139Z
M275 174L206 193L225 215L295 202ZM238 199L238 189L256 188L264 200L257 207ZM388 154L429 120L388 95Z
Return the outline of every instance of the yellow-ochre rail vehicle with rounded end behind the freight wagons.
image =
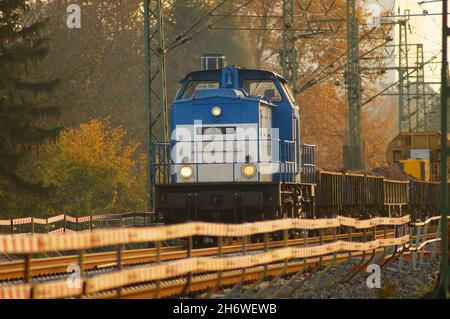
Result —
M391 167L400 168L417 179L439 182L441 134L440 132L402 132L389 143L386 158ZM447 159L447 165L450 169L450 158ZM449 173L450 170L447 171L448 179L450 179Z

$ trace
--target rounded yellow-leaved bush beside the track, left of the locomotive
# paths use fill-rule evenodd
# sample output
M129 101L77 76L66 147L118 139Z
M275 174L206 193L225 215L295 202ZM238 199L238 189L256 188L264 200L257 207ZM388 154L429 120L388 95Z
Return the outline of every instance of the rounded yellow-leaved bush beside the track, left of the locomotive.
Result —
M109 121L91 120L47 143L39 171L52 194L41 210L83 215L144 209L145 161L125 136Z

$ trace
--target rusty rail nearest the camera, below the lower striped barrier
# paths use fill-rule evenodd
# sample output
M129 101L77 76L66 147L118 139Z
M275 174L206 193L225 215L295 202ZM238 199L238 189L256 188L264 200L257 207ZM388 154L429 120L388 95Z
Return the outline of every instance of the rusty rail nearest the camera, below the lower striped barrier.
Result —
M436 234L430 234L433 238ZM355 278L355 275L365 271L367 263L376 263L381 267L388 265L394 261L400 254L405 259L410 259L411 252L402 250L400 253L388 253L384 249L377 249L372 253L357 252L351 254L351 259L355 262L352 270L353 275L349 280ZM381 258L375 258L381 256ZM312 274L316 267L333 264L339 266L348 262L350 258L349 253L339 253L336 255L328 255L323 257L307 258L301 261L289 261L282 263L274 263L267 266L251 267L245 270L232 270L208 274L193 274L190 278L180 277L175 279L163 280L158 283L145 283L132 285L130 287L120 288L116 290L104 291L101 293L82 296L83 299L152 299L152 298L170 298L189 295L199 296L201 293L207 293L207 298L214 292L220 292L226 287L243 287L252 283L261 283L261 281L271 281L272 279L279 279L282 277L293 276L296 273L307 270ZM377 261L374 261L376 260ZM269 283L271 285L271 283ZM257 298L261 298L256 295Z

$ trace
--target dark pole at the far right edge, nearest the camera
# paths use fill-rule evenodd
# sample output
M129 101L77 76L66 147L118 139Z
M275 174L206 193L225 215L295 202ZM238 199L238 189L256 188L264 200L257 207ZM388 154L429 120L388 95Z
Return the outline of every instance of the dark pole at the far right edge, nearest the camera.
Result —
M441 69L441 265L439 283L434 293L436 298L448 298L449 268L448 268L448 184L447 184L447 100L450 88L447 84L447 41L450 29L447 24L448 2L442 1L442 69Z

